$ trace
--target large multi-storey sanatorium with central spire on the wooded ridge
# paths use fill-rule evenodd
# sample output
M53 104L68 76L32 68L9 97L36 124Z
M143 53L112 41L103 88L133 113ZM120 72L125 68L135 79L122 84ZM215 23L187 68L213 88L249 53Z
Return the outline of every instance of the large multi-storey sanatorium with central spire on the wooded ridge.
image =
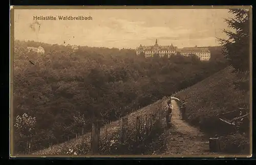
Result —
M210 60L210 50L208 47L184 47L181 49L178 49L176 46L173 46L173 44L169 46L160 46L157 43L153 46L140 46L136 49L136 53L138 54L145 54L145 57L153 57L154 54L159 54L160 57L167 56L168 58L171 55L175 55L178 52L180 52L183 56L189 56L191 54L195 54L200 58L201 61L209 61Z

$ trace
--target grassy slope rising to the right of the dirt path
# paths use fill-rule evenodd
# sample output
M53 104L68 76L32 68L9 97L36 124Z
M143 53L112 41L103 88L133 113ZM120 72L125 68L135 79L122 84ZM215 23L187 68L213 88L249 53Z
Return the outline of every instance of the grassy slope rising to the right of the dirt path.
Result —
M236 153L248 153L249 125L244 128L246 133L234 133L233 128L221 122L217 116L219 113L233 111L249 104L248 95L234 88L236 75L232 70L233 68L227 67L178 92L175 97L185 100L188 123L199 126L209 135L223 136L224 143L225 139L229 141L226 148L224 144L224 150L227 152L232 150Z

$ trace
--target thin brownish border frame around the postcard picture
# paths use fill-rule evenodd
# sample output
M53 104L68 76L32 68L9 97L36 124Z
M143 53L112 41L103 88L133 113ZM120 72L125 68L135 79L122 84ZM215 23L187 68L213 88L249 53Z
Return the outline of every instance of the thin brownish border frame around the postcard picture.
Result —
M100 155L100 156L62 156L62 155L18 155L13 156L14 144L13 144L13 76L14 76L14 10L15 9L249 9L249 19L250 19L250 54L249 54L249 67L250 67L250 155ZM40 157L80 157L80 158L245 158L252 157L252 6L10 6L10 102L9 102L9 156L12 158L15 157L31 157L31 158L40 158Z

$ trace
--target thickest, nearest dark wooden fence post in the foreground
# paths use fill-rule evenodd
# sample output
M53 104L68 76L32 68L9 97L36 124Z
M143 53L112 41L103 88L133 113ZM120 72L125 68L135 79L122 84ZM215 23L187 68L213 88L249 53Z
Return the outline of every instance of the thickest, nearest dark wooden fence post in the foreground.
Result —
M93 122L92 123L92 136L91 136L91 151L92 154L99 153L99 138L100 138L100 128L99 123Z

